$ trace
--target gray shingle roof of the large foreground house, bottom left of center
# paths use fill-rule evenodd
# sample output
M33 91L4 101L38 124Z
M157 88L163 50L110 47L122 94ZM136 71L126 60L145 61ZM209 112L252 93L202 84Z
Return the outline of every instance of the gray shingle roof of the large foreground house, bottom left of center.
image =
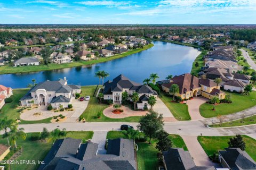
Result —
M108 149L106 155L97 155L98 144L87 142L81 144L81 140L68 140L64 142L57 140L52 146L51 150L45 157L46 164L41 165L42 169L55 170L135 170L136 163L134 158L133 140L129 139L114 139L108 141ZM63 145L63 146L62 146ZM66 148L66 150L63 150ZM78 153L76 154L78 149ZM117 156L118 155L118 156Z

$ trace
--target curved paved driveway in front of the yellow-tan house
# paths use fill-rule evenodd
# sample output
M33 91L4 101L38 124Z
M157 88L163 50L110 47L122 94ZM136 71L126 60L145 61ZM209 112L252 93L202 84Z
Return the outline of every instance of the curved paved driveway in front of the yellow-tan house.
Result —
M191 120L204 119L204 117L201 116L199 112L199 107L208 100L209 99L206 99L204 97L194 97L193 99L187 101L188 112L191 117Z

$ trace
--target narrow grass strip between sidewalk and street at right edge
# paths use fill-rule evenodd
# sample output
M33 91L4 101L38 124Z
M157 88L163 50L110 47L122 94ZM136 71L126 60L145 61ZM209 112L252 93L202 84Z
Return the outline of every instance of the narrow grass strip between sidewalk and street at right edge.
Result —
M226 123L220 124L212 124L210 127L212 128L223 128L223 127L233 127L233 126L243 126L243 125L249 125L249 124L256 124L256 115L246 117L242 121L242 119L236 120L236 121L230 121Z

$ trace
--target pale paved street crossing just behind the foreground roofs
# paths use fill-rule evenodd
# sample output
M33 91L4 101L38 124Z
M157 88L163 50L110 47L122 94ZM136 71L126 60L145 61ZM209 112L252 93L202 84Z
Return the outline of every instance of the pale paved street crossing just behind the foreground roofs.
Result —
M55 128L66 128L67 131L110 131L120 130L121 124L130 124L134 127L137 123L124 122L86 122L86 123L46 123L46 124L22 124L19 128L24 128L25 132L41 132L43 128L52 131ZM223 136L236 134L251 134L256 133L256 125L243 128L228 128L228 129L209 129L205 126L202 120L183 121L183 122L167 122L164 129L171 134L179 135L202 135L208 136Z

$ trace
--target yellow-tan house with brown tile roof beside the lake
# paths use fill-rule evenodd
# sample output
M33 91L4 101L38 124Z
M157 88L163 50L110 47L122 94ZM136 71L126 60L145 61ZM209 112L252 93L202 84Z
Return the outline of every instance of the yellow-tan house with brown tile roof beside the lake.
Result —
M189 99L198 95L211 99L213 96L218 96L219 99L224 99L226 94L220 90L220 85L209 79L199 79L189 73L178 75L169 80L170 82L162 83L162 89L165 92L170 92L172 84L179 86L179 93L175 96L181 97L182 100Z

